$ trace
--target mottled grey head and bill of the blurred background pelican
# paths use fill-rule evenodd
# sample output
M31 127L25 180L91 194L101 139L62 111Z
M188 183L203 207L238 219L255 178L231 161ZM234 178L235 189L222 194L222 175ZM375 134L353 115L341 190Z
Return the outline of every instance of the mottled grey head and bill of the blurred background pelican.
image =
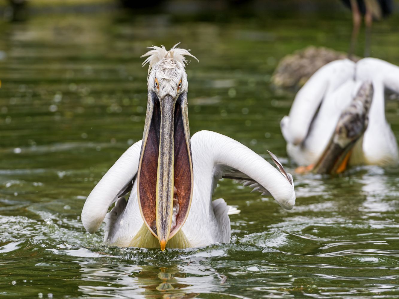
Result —
M335 174L346 169L353 147L367 129L372 99L373 85L365 82L350 106L342 112L334 134L312 172Z

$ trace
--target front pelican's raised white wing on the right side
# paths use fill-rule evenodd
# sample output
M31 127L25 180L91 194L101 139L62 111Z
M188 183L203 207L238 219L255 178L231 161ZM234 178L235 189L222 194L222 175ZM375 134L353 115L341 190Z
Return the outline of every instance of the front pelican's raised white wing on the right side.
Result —
M212 190L223 177L235 179L253 187L255 191L270 194L284 209L290 210L294 207L292 176L286 173L275 155L272 156L273 161L280 171L238 141L211 131L194 134L192 149L202 156L206 152L205 157L211 160L209 163L213 165Z

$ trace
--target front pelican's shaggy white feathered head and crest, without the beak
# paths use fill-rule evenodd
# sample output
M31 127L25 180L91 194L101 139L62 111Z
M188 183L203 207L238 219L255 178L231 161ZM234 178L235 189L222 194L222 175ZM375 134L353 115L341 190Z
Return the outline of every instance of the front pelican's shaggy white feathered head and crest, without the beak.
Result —
M187 92L186 56L191 56L198 61L189 52L190 50L176 48L178 44L169 51L164 45L148 47L151 50L141 56L147 57L142 65L148 63L148 90L155 92L160 98L167 94L175 98L182 92Z

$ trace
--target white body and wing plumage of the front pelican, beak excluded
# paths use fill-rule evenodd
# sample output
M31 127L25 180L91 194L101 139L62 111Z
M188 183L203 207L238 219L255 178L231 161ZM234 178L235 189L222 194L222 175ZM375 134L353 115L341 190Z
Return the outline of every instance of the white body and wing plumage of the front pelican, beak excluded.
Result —
M221 134L200 131L191 138L194 191L186 223L182 232L190 247L217 242L230 242L231 209L223 199L212 201L217 181L224 175L243 174L256 185L267 190L285 209L295 204L293 185L270 163L243 144ZM107 245L128 247L143 225L138 209L136 180L129 199L121 197L124 187L132 182L138 168L141 140L133 144L109 169L86 200L82 222L89 232L95 232L106 222L104 242ZM118 200L119 198L119 200ZM108 207L117 205L107 213ZM231 209L236 213L235 209ZM107 213L107 215L106 215ZM106 215L106 216L105 216Z

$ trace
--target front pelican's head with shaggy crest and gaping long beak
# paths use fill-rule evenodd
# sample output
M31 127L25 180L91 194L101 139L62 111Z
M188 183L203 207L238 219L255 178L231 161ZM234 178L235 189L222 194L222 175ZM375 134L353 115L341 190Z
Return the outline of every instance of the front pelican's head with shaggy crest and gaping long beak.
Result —
M193 193L185 56L194 56L177 45L169 51L152 46L142 55L143 66L149 64L148 102L137 194L144 223L162 251L186 221Z

